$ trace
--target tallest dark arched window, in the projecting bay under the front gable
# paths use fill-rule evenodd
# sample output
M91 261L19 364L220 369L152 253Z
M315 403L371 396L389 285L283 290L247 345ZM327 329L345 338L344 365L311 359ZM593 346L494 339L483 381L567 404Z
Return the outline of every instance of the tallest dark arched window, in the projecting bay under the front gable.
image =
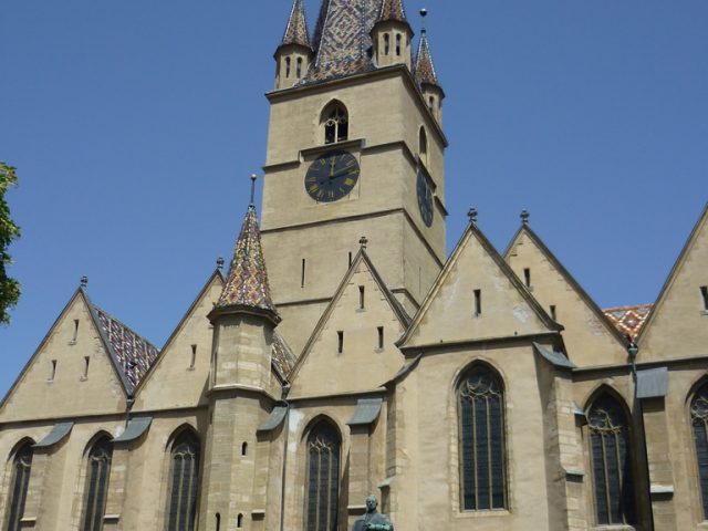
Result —
M489 367L472 367L457 389L461 509L506 509L503 385Z

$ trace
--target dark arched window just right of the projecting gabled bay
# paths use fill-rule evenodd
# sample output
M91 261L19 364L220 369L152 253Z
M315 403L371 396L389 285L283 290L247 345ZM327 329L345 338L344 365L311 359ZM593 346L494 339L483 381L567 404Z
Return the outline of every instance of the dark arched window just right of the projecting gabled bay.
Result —
M600 395L587 415L598 524L635 523L629 424L620 402Z

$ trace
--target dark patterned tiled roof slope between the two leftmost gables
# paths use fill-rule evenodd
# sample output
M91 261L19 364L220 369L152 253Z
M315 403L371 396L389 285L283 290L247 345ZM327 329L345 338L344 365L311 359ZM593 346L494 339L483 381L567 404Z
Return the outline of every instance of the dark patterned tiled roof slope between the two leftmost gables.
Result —
M115 354L116 363L135 388L157 358L159 351L117 319L95 305L93 308L110 347Z

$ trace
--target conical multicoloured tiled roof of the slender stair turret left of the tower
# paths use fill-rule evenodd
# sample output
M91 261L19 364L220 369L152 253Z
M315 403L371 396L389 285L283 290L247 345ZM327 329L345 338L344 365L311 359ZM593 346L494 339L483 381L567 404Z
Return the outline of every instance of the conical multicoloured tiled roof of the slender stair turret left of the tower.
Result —
M243 226L236 240L233 259L217 308L246 306L278 315L270 295L268 272L261 247L256 207L248 207Z

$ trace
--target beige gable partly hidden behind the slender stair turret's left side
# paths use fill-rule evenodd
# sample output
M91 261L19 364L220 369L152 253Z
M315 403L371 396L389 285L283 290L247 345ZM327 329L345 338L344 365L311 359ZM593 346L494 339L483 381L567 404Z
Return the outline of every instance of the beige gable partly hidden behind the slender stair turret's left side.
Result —
M221 295L215 272L167 341L135 396L135 410L192 407L205 399L211 366L212 326L207 314Z

